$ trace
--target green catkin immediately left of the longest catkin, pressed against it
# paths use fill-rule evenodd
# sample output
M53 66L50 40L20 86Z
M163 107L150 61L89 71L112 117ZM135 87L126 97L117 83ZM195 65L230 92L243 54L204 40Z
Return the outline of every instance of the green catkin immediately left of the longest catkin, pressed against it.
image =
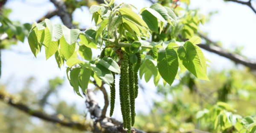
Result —
M119 99L120 99L120 105L121 105L121 112L122 112L122 119L124 128L126 127L126 120L125 120L125 107L124 107L124 97L123 97L123 63L121 65L121 73L120 73L120 79L119 79Z

